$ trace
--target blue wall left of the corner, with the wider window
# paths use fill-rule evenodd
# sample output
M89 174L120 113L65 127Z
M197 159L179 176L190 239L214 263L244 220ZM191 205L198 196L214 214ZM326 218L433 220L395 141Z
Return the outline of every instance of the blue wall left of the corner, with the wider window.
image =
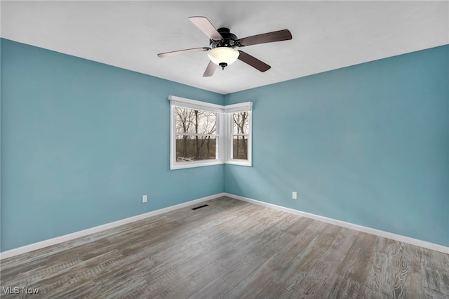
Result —
M1 251L223 192L222 165L169 170L170 94L224 100L1 39Z

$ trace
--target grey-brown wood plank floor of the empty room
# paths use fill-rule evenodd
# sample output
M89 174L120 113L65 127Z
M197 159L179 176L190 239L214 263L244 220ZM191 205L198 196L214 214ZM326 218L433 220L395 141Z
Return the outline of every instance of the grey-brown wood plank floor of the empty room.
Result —
M449 298L447 254L228 197L203 204L1 260L1 298L29 298L22 287L41 298Z

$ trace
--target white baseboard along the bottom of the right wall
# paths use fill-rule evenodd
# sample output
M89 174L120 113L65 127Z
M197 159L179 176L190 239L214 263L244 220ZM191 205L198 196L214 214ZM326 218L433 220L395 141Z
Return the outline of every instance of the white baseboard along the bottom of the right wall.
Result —
M340 220L335 220L335 219L323 217L323 216L320 216L320 215L314 215L314 214L311 214L311 213L306 213L306 212L303 212L303 211L295 210L293 208L286 208L284 206L277 206L276 204L268 204L268 203L266 203L264 201L258 201L258 200L255 200L255 199L248 199L246 197L241 197L239 195L225 193L225 196L226 197L232 197L234 199L239 199L241 201L247 201L247 202L250 202L252 204L258 204L260 206L266 206L267 208L275 208L276 210L279 210L279 211L284 211L284 212L287 212L287 213L292 213L292 214L295 214L295 215L304 216L304 217L311 218L311 219L314 219L314 220L320 220L320 221L327 222L327 223L330 223L330 224L333 224L333 225L338 225L338 226L341 226L341 227L347 227L347 228L350 228L351 230L357 230L359 232L366 232L367 234L374 234L374 235L379 236L379 237L384 237L384 238L392 239L392 240L395 240L395 241L401 241L403 243L407 243L407 244L411 244L411 245L415 245L415 246L420 246L420 247L423 247L423 248L427 248L427 249L431 249L431 250L434 250L434 251L439 251L439 252L442 252L442 253L449 254L449 247L446 247L446 246L443 246L443 245L439 245L439 244L434 244L434 243L431 243L431 242L428 242L428 241L422 241L420 239L413 239L413 238L410 238L410 237L402 236L401 234L393 234L391 232L384 232L383 230L375 230L375 229L370 228L370 227L364 227L364 226L361 226L361 225L355 225L353 223L344 222L344 221L340 221Z

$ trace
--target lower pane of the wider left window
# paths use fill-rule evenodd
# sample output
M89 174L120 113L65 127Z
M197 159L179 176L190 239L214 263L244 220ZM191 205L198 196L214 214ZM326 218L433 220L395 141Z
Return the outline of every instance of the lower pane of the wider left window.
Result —
M217 138L214 136L176 136L176 161L216 159Z

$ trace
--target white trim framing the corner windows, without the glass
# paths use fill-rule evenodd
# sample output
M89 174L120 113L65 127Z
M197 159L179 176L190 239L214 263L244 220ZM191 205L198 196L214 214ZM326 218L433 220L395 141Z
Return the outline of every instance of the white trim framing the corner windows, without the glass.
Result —
M233 105L217 105L198 100L180 98L169 95L170 101L170 169L182 169L201 166L211 166L218 164L234 164L240 166L252 166L252 144L253 144L253 124L252 110L253 102L242 102ZM207 112L217 113L217 159L200 160L191 162L176 161L176 134L175 134L175 107L187 109L198 109ZM248 159L232 159L232 114L235 112L249 112L250 131L248 134ZM235 135L235 134L234 134Z

